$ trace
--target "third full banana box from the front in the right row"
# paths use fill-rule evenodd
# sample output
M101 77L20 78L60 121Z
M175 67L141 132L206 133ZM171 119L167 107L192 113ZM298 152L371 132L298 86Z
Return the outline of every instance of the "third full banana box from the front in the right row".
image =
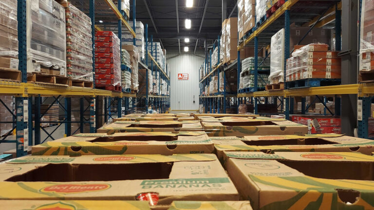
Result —
M210 137L252 136L252 135L304 135L308 126L267 117L232 118L223 117L216 120L202 119L201 124Z

